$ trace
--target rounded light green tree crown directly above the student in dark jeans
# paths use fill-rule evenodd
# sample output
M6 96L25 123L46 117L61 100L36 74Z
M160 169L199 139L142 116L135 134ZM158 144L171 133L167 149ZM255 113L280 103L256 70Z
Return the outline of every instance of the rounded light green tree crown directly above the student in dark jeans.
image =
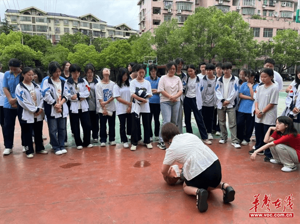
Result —
M44 69L47 69L48 64L51 61L57 61L59 64L62 64L63 61L67 60L69 50L66 47L63 47L59 44L47 48L44 57L41 58L41 63Z

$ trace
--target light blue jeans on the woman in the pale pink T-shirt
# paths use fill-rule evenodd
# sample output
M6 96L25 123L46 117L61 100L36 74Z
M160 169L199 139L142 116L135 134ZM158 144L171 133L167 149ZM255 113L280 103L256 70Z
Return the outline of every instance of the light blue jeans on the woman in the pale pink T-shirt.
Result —
M161 128L164 124L171 122L177 126L179 107L180 107L180 101L176 101L176 102L166 101L160 103L162 124L160 125L160 129L159 129L159 142L163 142L161 137Z

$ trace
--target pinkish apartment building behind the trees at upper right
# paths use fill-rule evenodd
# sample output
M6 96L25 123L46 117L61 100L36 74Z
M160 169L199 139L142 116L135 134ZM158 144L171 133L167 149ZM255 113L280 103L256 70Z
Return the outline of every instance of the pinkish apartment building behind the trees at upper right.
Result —
M295 22L297 0L138 0L139 30L152 33L164 21L177 18L183 25L194 8L215 5L224 13L237 11L253 28L258 41L272 41L276 31L291 28L300 34L300 23ZM262 19L253 19L259 15Z

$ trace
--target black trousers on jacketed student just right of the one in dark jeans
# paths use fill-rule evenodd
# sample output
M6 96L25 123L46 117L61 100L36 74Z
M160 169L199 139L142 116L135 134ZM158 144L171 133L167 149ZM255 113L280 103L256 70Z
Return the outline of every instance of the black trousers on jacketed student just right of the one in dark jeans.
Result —
M81 109L78 113L70 113L70 121L72 122L73 134L76 146L88 146L90 144L90 119L88 111L82 112ZM80 137L80 124L83 131L83 142Z

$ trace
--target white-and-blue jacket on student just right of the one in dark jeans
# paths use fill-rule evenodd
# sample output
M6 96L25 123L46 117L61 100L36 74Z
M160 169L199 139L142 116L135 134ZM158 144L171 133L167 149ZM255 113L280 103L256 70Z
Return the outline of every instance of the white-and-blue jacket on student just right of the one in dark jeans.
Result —
M78 78L77 86L79 87L79 92L76 93L74 89L74 81L72 77L69 77L65 84L64 89L66 92L67 99L71 102L70 104L70 111L74 114L78 113L78 104L81 103L81 110L82 112L88 111L88 103L86 98L89 97L89 85L88 82L83 78ZM76 94L77 98L75 100L71 100L71 97ZM80 101L80 98L84 98Z

